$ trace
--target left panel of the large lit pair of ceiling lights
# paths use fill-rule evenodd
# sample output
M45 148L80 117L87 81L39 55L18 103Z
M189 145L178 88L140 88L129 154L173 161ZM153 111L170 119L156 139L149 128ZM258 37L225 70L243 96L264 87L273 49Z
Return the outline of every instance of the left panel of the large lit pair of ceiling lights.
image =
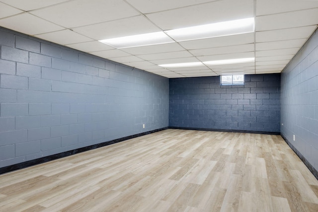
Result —
M173 43L174 41L164 32L153 32L140 35L125 36L119 38L111 38L100 40L104 44L112 46L116 49L149 46L164 43Z

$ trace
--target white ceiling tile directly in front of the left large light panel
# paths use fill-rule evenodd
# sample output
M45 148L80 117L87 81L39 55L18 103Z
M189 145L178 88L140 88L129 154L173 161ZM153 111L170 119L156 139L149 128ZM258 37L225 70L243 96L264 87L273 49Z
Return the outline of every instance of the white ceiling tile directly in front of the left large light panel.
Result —
M96 40L160 31L157 26L143 15L77 27L73 28L73 30Z

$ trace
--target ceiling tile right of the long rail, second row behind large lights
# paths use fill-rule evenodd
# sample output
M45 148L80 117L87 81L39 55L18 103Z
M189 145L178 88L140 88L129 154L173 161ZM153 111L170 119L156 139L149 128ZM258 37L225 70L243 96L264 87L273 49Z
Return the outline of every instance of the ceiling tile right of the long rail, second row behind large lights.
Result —
M256 51L299 48L304 45L306 40L307 40L306 38L303 38L303 39L286 40L286 41L256 43Z

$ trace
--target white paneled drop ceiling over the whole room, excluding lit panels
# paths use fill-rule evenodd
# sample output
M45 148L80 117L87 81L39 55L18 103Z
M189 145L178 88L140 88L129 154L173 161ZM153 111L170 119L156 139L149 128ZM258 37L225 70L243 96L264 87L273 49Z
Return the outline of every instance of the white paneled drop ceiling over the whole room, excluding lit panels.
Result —
M98 40L253 17L254 32L116 49ZM318 0L0 0L0 26L165 77L281 72L318 24ZM162 68L162 64L255 58Z

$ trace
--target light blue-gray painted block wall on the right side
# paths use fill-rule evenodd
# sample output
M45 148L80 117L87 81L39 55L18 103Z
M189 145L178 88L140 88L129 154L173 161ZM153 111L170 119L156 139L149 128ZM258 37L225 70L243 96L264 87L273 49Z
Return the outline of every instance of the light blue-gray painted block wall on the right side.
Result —
M281 135L318 170L317 30L282 72L281 88Z

